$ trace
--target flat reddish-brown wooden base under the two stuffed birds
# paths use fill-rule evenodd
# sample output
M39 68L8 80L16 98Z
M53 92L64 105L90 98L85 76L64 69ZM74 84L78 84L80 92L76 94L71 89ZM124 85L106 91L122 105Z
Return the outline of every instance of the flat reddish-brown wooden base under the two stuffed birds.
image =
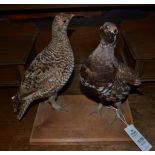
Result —
M54 111L49 104L40 104L34 121L31 144L82 144L130 142L125 125L116 119L112 108L104 108L102 115L91 114L97 104L84 95L59 96L68 112ZM128 101L123 104L124 115L132 123ZM114 121L115 120L115 121Z

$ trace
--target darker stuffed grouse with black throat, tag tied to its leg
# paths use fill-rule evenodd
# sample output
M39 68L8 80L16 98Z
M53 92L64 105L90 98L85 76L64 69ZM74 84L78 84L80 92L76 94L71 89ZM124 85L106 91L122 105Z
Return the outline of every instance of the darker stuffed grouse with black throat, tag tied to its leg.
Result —
M119 62L114 55L118 33L115 24L105 22L100 30L99 45L81 66L81 85L87 90L85 92L91 92L89 95L97 98L98 112L101 112L103 105L113 106L122 112L122 103L132 85L137 87L141 81L131 68Z

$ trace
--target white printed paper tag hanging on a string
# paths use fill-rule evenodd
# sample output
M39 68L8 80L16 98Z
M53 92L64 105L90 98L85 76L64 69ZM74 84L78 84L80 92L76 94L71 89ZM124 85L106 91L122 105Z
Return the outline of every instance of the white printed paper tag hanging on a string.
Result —
M152 148L152 145L142 136L133 124L128 125L124 130L142 151L149 151Z

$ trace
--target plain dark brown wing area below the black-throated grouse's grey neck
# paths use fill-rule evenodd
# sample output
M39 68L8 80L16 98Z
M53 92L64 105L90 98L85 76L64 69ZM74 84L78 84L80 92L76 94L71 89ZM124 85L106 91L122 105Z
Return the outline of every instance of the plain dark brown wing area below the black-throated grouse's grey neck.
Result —
M91 85L105 87L115 78L116 69L105 65L99 65L87 59L81 66L81 77Z

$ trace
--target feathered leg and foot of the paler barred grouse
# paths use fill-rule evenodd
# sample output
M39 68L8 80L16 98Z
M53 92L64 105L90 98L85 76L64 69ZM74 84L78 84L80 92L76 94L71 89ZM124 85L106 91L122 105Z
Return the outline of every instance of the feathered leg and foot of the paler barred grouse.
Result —
M48 99L49 104L52 106L52 108L56 111L67 111L67 109L65 109L65 105L58 103L56 99L57 95L53 95Z

